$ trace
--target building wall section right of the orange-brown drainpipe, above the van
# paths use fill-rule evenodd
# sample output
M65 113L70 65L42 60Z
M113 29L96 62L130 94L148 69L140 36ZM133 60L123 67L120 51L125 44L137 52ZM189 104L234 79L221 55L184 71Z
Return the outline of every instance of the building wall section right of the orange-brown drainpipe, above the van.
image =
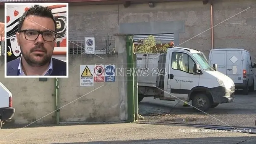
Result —
M251 8L249 8L251 7ZM248 10L240 13L241 11ZM240 14L238 14L240 13ZM225 14L225 15L224 15ZM238 14L237 16L234 16ZM218 0L214 4L214 25L224 21L214 28L215 48L244 48L256 61L256 2L254 0Z

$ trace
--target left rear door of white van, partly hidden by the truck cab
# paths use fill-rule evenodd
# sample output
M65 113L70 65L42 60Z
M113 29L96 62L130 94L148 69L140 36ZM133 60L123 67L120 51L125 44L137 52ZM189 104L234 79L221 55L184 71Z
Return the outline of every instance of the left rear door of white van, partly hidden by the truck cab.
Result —
M226 51L220 50L220 51L212 51L211 52L211 58L210 58L210 64L213 66L213 64L217 64L217 71L220 73L226 74Z

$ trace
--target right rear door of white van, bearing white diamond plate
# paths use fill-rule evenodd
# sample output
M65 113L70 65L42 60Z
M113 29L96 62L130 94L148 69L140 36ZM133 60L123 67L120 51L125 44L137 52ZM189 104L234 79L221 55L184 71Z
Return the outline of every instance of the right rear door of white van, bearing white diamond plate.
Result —
M227 52L227 76L234 83L243 83L242 51L230 50Z

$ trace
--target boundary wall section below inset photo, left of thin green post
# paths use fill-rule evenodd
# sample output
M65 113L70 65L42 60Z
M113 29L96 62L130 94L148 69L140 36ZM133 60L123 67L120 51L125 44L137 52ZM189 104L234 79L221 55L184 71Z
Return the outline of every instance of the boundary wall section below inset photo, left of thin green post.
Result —
M4 78L4 57L0 57L0 81L13 95L13 107L16 113L15 124L29 124L54 111L54 79L39 82L38 78ZM54 113L37 121L54 123Z

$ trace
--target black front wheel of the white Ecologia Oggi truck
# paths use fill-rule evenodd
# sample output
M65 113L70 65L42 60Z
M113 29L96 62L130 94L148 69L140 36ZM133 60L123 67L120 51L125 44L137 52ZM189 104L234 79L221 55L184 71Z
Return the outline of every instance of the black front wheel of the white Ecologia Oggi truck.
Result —
M209 110L211 105L212 105L211 100L205 94L196 94L196 96L192 98L192 106L198 112L201 112L201 111L206 112L207 110Z

